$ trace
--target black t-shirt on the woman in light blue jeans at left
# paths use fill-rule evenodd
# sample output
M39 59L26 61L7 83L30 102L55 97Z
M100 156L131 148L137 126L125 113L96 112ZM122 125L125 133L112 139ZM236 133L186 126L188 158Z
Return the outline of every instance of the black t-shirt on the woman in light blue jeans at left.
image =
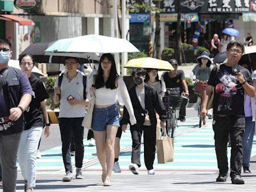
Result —
M32 96L32 100L29 106L24 111L25 130L33 126L43 126L43 114L41 111L40 102L49 97L41 79L33 74L31 74L28 79L31 84L34 96Z

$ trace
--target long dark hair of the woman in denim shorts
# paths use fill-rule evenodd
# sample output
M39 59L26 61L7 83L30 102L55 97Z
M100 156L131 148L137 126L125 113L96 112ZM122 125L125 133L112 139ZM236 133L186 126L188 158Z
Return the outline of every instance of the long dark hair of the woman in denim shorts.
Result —
M108 76L106 82L104 83L103 69L101 67L101 62L104 60L105 57L111 62L111 68L110 68L109 76ZM119 76L119 75L116 72L115 61L114 61L113 55L110 53L102 54L102 56L99 59L98 72L97 72L97 75L95 78L95 88L101 88L105 85L106 88L115 89L116 88L116 86L115 86L116 76Z

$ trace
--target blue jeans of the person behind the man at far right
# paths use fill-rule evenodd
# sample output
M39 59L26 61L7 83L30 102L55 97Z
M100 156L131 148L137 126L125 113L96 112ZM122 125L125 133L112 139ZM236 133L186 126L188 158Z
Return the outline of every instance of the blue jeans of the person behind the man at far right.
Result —
M251 121L252 117L245 117L245 128L242 137L242 148L243 148L243 156L242 156L242 166L250 166L250 154L251 147L253 141L253 134L255 129L255 121Z

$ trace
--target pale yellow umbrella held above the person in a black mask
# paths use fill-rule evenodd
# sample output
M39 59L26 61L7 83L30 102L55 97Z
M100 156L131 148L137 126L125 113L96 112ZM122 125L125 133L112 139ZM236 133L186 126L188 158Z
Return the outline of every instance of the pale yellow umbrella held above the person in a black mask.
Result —
M174 70L172 65L166 60L152 57L133 58L124 65L126 68L155 68L158 70Z

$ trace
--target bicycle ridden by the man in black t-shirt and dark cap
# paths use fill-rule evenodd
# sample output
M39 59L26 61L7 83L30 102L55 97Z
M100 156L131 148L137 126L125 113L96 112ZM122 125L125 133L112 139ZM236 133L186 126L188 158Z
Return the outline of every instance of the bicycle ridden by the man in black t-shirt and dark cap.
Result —
M169 88L163 97L163 104L167 115L166 132L170 138L174 137L175 128L178 127L177 116L182 99L183 97L179 94L179 88Z

